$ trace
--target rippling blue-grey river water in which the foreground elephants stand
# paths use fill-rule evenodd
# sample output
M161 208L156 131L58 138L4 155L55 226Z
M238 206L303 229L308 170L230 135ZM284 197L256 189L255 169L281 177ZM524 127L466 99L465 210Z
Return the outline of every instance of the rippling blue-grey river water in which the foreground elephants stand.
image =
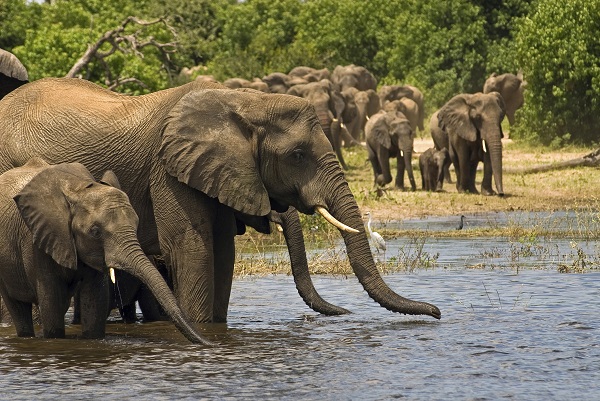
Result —
M380 257L405 252L402 241ZM515 269L529 255L501 241L485 254L499 240L488 241L429 241L434 267L384 276L439 306L439 321L379 307L353 276L314 277L353 312L322 316L277 275L234 281L227 325L202 326L215 348L188 344L169 323L111 323L100 341L77 339L78 326L64 340L0 326L0 399L600 399L600 272L559 273L539 255L539 268ZM557 253L571 263L574 240L563 242ZM598 253L594 241L576 247Z

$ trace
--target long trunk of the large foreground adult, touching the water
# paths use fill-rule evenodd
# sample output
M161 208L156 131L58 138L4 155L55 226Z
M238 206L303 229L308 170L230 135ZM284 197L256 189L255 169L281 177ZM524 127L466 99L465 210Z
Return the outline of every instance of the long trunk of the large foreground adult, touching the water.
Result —
M413 301L392 291L379 274L369 241L364 231L364 223L356 200L350 191L348 183L343 179L343 173L333 157L322 161L319 170L324 174L320 182L331 183L323 188L328 196L325 197L326 207L339 221L353 228L360 228L359 233L341 231L348 252L348 259L354 274L367 291L369 296L384 308L409 315L429 315L436 319L441 317L440 310L432 304Z

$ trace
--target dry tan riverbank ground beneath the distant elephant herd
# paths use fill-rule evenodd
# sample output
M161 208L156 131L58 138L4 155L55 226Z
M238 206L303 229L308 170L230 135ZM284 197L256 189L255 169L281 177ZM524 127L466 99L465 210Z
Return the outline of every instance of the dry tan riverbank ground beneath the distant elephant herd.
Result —
M511 140L503 140L503 174L505 196L483 196L459 194L455 184L444 183L443 192L425 192L420 190L421 176L418 168L418 156L433 146L431 138L415 140L413 169L417 182L417 191L400 191L388 188L377 193L373 188L373 173L367 158L366 149L355 147L344 150L349 170L346 178L363 213L371 212L374 226L386 240L410 238L416 248L423 247L433 237L500 237L520 241L533 238L539 244L544 238L570 238L574 236L597 240L600 237L600 168L579 167L565 170L553 170L535 174L516 174L523 168L547 165L575 159L592 152L593 148L569 148L550 150L546 148L526 147ZM395 162L392 162L395 176ZM454 172L452 171L453 178ZM481 186L481 164L476 184ZM405 186L409 186L405 177ZM589 221L579 222L582 227L573 230L556 231L539 222L523 222L509 226L492 225L469 230L414 230L403 228L403 221L422 219L431 216L446 216L449 221L458 224L461 215L506 212L545 212L548 215L560 211L577 211ZM328 225L320 216L301 215L307 248L318 249L309 264L313 273L351 274L344 251L340 251L340 235L337 229ZM366 217L365 217L366 223ZM588 224L589 223L589 224ZM583 230L583 231L582 231ZM238 256L236 274L289 274L287 248L281 233L271 235L257 234L253 230L236 238ZM418 249L417 249L418 251ZM413 260L394 260L380 262L382 271L401 270L402 266L427 267L431 255L413 255ZM598 255L591 255L596 258Z

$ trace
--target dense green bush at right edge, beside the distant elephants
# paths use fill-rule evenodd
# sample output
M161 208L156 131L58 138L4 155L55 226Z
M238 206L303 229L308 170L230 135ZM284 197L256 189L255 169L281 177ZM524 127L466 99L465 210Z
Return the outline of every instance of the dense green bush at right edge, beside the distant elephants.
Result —
M599 142L600 0L540 0L517 34L528 82L519 138Z

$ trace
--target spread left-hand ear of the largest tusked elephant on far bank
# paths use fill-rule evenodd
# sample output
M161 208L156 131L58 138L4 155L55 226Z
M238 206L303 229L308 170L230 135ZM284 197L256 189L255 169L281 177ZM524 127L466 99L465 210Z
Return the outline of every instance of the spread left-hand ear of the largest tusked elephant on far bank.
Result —
M438 113L440 128L455 132L461 138L473 142L477 139L477 128L471 121L471 95L456 95Z

